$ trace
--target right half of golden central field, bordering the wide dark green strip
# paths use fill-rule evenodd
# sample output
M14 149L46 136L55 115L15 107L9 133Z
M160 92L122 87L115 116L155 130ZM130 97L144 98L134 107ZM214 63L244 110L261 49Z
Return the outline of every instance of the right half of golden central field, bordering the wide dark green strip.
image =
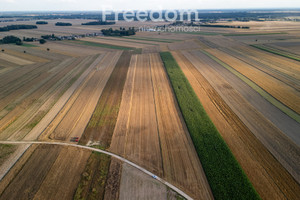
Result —
M177 102L158 54L150 54L150 66L164 177L195 199L212 199L206 176L176 108Z

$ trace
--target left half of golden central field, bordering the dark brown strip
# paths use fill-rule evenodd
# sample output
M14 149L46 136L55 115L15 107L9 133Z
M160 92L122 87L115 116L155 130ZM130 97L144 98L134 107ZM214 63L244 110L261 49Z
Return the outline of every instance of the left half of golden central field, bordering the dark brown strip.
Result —
M162 174L148 55L132 57L109 149Z

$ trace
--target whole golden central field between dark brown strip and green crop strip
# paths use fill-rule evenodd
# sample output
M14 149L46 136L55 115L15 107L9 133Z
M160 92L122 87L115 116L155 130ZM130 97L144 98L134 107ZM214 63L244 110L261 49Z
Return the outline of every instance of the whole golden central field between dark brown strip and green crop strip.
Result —
M212 198L178 112L158 54L133 56L109 149L163 175L194 198Z

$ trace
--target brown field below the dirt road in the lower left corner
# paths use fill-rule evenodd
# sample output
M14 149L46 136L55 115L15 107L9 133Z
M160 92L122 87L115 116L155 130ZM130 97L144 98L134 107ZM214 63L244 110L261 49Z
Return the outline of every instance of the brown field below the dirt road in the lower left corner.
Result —
M1 199L72 199L90 152L57 145L31 148L32 155L10 171L15 177L1 181Z

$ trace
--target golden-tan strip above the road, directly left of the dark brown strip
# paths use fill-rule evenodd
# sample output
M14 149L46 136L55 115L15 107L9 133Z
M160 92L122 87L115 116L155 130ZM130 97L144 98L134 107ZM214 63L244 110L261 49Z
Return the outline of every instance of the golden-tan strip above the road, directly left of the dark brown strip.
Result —
M92 65L87 78L42 133L40 139L70 140L71 137L81 136L120 55L120 51L108 53L102 61Z

